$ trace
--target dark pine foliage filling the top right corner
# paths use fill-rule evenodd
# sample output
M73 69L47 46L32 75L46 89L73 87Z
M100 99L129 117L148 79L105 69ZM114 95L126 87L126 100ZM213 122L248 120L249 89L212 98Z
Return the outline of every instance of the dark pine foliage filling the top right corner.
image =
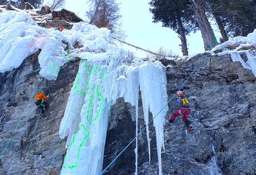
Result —
M227 36L247 36L256 28L255 0L209 2L212 7L210 13L214 15L224 41L227 40Z

